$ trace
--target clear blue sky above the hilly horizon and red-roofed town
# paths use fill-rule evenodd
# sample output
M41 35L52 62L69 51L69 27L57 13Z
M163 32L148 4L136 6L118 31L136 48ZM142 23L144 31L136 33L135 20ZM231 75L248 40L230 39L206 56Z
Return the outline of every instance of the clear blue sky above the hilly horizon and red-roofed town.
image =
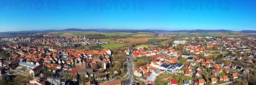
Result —
M44 7L41 10L36 9L35 2L32 3L31 10L29 3L23 8L24 3L17 0L17 10L15 6L9 9L6 2L1 1L0 9L0 32L5 31L29 31L29 30L47 30L47 29L66 29L66 28L119 28L119 29L163 29L163 30L194 30L194 29L226 29L233 31L256 30L256 1L255 0L231 0L221 2L212 0L214 8L207 9L205 1L195 3L187 0L188 9L180 4L185 4L186 0L175 2L174 0L145 0L143 1L144 10L138 10L139 1L136 1L136 10L134 10L134 0L128 0L128 9L121 8L121 2L109 3L102 0L102 10L100 6L94 5L100 1L85 0L62 0L58 1L58 10L52 10L56 5L51 1L51 10L47 4L49 0L42 0ZM88 5L93 2L93 6ZM15 1L11 1L12 4ZM20 4L19 4L20 3ZM88 4L87 4L88 3ZM104 6L105 3L105 6ZM173 3L173 4L172 4ZM179 4L175 6L175 3ZM189 3L191 3L189 5ZM229 6L229 10L224 7ZM40 8L40 3L37 4ZM88 7L88 9L87 9ZM126 4L123 3L123 8ZM172 8L173 7L173 8ZM190 8L191 7L191 8ZM211 3L208 4L211 8Z

